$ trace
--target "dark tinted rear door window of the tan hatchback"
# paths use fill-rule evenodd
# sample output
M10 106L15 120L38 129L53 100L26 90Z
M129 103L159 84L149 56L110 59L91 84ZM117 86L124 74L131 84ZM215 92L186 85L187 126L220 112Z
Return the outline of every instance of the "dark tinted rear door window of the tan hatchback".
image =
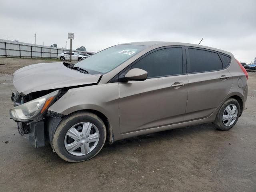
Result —
M189 73L206 72L222 69L222 62L217 53L188 48L190 65L188 66Z

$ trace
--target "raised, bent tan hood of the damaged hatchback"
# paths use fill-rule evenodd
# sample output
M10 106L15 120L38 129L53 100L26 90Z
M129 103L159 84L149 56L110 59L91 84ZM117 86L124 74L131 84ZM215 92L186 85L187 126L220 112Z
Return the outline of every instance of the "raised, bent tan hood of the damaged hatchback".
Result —
M20 94L27 95L41 90L95 84L100 76L72 70L64 66L63 62L40 63L14 72L13 84Z

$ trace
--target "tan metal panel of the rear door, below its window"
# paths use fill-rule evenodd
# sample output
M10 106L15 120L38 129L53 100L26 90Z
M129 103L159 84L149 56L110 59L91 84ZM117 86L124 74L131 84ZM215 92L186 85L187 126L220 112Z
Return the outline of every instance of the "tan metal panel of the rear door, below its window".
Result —
M226 75L228 79L220 79ZM233 77L228 69L188 74L188 102L185 121L206 118L228 95Z

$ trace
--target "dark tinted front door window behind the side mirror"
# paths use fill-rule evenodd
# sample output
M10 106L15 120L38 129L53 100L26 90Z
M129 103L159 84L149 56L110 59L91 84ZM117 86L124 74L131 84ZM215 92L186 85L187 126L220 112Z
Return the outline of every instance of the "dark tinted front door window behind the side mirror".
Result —
M148 78L182 74L182 48L165 48L152 52L132 68L148 72Z

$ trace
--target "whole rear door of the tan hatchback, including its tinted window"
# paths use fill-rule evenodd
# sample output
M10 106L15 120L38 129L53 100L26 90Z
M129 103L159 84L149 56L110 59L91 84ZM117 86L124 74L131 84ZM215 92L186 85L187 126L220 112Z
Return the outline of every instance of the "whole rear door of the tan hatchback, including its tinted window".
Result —
M188 102L184 120L206 118L227 96L233 78L218 52L186 47Z

